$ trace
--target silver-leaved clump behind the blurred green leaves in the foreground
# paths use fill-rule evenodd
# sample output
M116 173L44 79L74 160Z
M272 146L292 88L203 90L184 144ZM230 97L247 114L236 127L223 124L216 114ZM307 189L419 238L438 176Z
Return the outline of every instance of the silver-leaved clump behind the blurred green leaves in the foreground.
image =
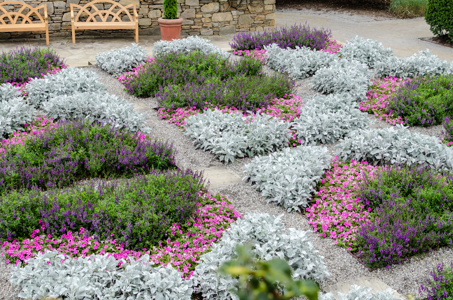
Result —
M208 300L237 300L232 292L237 286L237 278L219 273L218 268L236 259L236 247L244 244L251 245L252 255L257 259L284 259L291 267L294 279L322 283L330 274L323 257L313 246L310 232L294 228L286 231L282 216L249 213L233 223L212 250L200 256L200 264L193 274L196 291Z

